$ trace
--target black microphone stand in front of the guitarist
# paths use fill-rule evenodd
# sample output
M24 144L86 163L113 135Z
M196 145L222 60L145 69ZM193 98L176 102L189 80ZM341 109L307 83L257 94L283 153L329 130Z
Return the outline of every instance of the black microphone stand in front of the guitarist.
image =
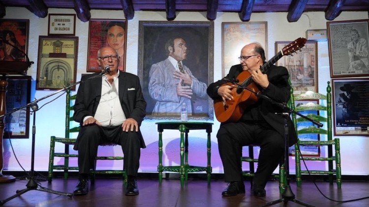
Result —
M280 106L282 109L284 109L285 111L289 111L288 113L285 112L285 113L277 113L277 114L280 114L283 116L284 118L284 156L283 156L283 161L284 161L284 166L285 166L285 172L286 172L286 187L282 193L282 198L281 199L278 199L276 201L272 201L272 202L269 202L265 205L263 205L262 207L268 207L268 206L272 206L272 205L275 205L275 204L279 204L281 202L284 203L284 205L286 205L289 201L291 202L294 202L296 204L300 204L302 206L306 206L306 207L314 207L312 205L309 205L305 202L302 202L302 201L299 201L297 199L295 199L295 194L293 194L292 190L291 190L291 186L290 186L290 183L289 183L289 153L288 153L288 143L289 143L289 139L288 139L288 126L287 126L287 117L291 114L291 113L295 113L305 119L307 119L308 121L311 121L313 124L319 126L319 127L322 127L323 124L320 123L320 122L317 122L315 120L312 120L310 118L308 118L307 116L299 113L299 112L296 112L295 110L293 110L292 108L289 108L287 107L285 104L281 104L281 103L277 103L276 101L272 100L271 98L265 96L265 95L260 95L260 93L256 93L256 95L260 98L263 98L264 100L268 100L269 102L271 102L272 104L275 104L275 105L278 105ZM279 175L281 176L281 175Z

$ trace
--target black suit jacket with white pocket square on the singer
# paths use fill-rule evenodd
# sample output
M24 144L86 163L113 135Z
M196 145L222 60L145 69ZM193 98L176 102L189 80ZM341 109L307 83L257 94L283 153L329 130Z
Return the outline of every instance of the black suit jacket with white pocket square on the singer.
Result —
M73 106L73 119L81 125L86 116L94 116L101 98L101 77L87 80L98 73L84 75L78 88L77 97ZM119 100L126 118L133 118L141 126L146 115L146 101L142 94L140 79L138 76L120 71L119 75ZM139 129L141 147L145 148L145 142ZM78 137L77 137L78 142ZM77 144L75 144L76 146Z

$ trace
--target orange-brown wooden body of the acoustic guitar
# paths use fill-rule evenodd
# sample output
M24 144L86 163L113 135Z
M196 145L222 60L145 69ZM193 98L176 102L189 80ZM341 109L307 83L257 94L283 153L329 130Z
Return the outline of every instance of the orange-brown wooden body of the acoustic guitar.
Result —
M241 85L243 82L241 80L246 80L249 77L250 73L248 71L241 72L237 76L237 79L239 80L237 84ZM223 85L229 85L229 83L225 83ZM254 82L251 82L247 88L251 89L255 93L260 91ZM235 87L231 90L233 100L226 100L225 103L222 99L215 100L214 112L216 119L221 123L236 122L240 120L247 106L254 104L259 99L253 92L240 87Z

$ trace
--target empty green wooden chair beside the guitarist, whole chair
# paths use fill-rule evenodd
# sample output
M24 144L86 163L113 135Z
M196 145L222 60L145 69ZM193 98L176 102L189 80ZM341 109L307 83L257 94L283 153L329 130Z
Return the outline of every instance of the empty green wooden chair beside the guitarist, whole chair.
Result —
M293 89L291 89L293 94ZM291 96L290 107L297 112L323 124L323 128L318 128L310 121L303 117L297 117L298 115L292 114L292 121L296 127L296 133L298 135L298 142L295 144L295 159L296 159L296 183L297 186L301 186L302 174L322 174L328 175L329 181L333 184L334 175L336 175L337 187L341 188L341 159L339 152L339 139L332 138L332 98L331 98L331 86L328 81L327 95L306 92L297 96ZM302 101L299 106L295 106L296 101ZM315 102L315 103L313 103ZM304 104L306 103L306 104ZM304 114L305 113L305 114ZM305 123L305 124L304 124ZM309 124L311 123L311 124ZM312 140L315 136L320 140ZM305 136L305 137L304 137ZM301 147L306 146L310 149L315 149L315 152L319 152L323 147L327 153L316 153L313 156L302 156L300 153ZM335 151L335 154L333 154ZM314 170L310 169L310 165L307 165L307 170L301 169L301 161L326 161L328 162L328 169ZM311 162L310 162L311 163ZM334 163L335 167L334 168Z

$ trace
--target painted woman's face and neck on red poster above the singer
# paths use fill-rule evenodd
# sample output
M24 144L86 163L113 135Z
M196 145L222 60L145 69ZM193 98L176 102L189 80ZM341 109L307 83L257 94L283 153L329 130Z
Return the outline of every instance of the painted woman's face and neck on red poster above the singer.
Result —
M114 48L119 55L118 69L124 70L125 31L123 22L110 22L107 31L107 45Z

